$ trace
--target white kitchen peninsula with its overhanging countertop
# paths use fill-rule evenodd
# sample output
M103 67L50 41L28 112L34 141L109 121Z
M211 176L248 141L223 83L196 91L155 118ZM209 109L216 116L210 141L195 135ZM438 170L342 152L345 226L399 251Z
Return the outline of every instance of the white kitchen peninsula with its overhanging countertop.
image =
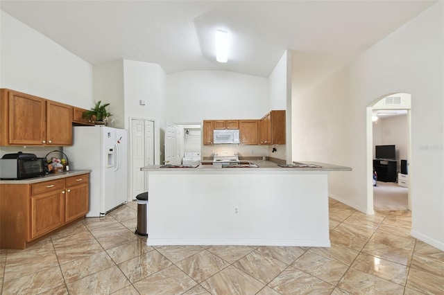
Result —
M257 168L142 167L148 174L148 245L330 247L327 163Z

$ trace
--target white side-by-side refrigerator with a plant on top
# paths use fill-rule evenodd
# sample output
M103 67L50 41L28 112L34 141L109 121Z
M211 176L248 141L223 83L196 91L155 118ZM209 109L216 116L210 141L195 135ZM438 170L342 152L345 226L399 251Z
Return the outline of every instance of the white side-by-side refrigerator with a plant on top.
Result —
M69 168L91 170L86 216L103 216L128 199L127 132L100 125L76 126L73 137L74 144L63 149Z

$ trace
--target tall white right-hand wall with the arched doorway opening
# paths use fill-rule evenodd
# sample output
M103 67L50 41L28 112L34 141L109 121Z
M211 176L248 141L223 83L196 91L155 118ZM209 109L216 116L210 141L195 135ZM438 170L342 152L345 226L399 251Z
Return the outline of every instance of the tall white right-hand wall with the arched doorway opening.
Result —
M411 93L412 235L444 250L443 21L440 1L309 93L293 96L293 152L352 167L331 173L330 193L371 212L366 107L391 93Z

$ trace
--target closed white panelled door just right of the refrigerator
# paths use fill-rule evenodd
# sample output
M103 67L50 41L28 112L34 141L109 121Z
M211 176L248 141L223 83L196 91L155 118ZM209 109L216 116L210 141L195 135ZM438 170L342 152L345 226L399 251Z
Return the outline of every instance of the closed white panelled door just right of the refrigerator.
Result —
M131 120L130 199L148 191L146 172L140 168L154 165L154 122Z

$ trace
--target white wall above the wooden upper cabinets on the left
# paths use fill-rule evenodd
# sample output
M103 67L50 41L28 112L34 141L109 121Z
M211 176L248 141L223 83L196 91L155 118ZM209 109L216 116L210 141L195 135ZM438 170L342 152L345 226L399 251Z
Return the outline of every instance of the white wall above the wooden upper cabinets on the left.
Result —
M0 11L0 87L92 107L92 66Z

